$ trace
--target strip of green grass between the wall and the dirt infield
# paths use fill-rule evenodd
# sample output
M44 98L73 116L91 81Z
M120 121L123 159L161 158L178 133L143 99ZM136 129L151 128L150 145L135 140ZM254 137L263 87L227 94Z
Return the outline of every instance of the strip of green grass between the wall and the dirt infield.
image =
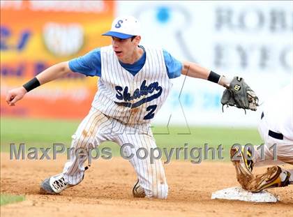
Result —
M70 147L71 135L75 133L80 121L51 120L51 119L17 119L1 118L1 151L9 152L10 143L19 146L26 144L26 149L30 147L51 147L54 143L64 144ZM262 140L257 132L257 128L232 128L232 127L200 127L193 126L153 126L153 135L156 144L161 149L184 148L188 144L188 149L193 147L217 148L223 146L223 156L230 160L229 150L233 144L253 144L260 145ZM113 156L119 156L120 147L113 142L105 142L99 148L110 147Z

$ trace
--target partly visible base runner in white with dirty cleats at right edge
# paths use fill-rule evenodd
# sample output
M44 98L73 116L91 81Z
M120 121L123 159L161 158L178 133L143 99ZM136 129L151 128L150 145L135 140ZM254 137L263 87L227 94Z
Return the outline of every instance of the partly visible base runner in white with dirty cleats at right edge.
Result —
M293 165L293 88L292 83L281 89L264 103L259 132L264 140L264 149L248 149L246 158L243 151L241 160L232 160L241 186L252 192L266 188L284 187L293 184L293 170L285 170L278 164ZM275 148L274 148L275 147ZM231 150L233 158L238 149ZM264 174L254 175L253 167L274 165Z

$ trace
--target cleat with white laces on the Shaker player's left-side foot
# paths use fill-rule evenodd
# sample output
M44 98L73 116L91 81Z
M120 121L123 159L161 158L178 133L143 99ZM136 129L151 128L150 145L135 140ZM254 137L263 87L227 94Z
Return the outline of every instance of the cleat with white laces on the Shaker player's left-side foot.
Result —
M62 190L70 188L73 185L68 184L64 179L63 174L57 174L53 177L45 179L42 184L40 184L40 193L56 195L61 193Z

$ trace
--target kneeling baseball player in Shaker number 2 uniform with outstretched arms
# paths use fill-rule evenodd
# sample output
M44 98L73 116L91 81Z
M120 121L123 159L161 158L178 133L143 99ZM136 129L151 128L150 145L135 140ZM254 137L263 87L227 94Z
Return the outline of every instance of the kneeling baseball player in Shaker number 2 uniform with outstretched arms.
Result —
M232 104L251 110L256 109L257 97L238 77L231 79L220 76L196 63L178 61L163 49L139 45L140 24L135 17L117 17L112 22L111 30L103 36L112 37L112 45L57 63L22 87L8 92L7 103L13 106L28 91L67 73L99 77L91 110L72 136L70 160L61 174L45 179L40 190L42 193L57 194L80 184L84 179L84 163L88 153L80 154L78 150L89 152L101 142L113 141L123 147L126 156L132 156L130 163L138 178L133 195L165 199L168 186L161 161L151 163L149 158L142 160L137 158L136 152L140 148L148 151L156 148L150 122L170 93L171 80L183 74L218 83L227 87L227 90L235 85L246 85L241 89L244 90L242 95L240 92L233 95ZM232 98L230 91L225 91L224 96ZM245 105L237 104L238 99L244 99Z

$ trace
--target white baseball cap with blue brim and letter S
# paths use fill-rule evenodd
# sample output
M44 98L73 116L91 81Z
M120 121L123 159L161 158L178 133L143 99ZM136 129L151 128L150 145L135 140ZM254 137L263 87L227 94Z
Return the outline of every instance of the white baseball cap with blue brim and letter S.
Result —
M140 23L133 16L117 17L112 22L111 30L102 34L102 36L112 36L121 39L140 35Z

